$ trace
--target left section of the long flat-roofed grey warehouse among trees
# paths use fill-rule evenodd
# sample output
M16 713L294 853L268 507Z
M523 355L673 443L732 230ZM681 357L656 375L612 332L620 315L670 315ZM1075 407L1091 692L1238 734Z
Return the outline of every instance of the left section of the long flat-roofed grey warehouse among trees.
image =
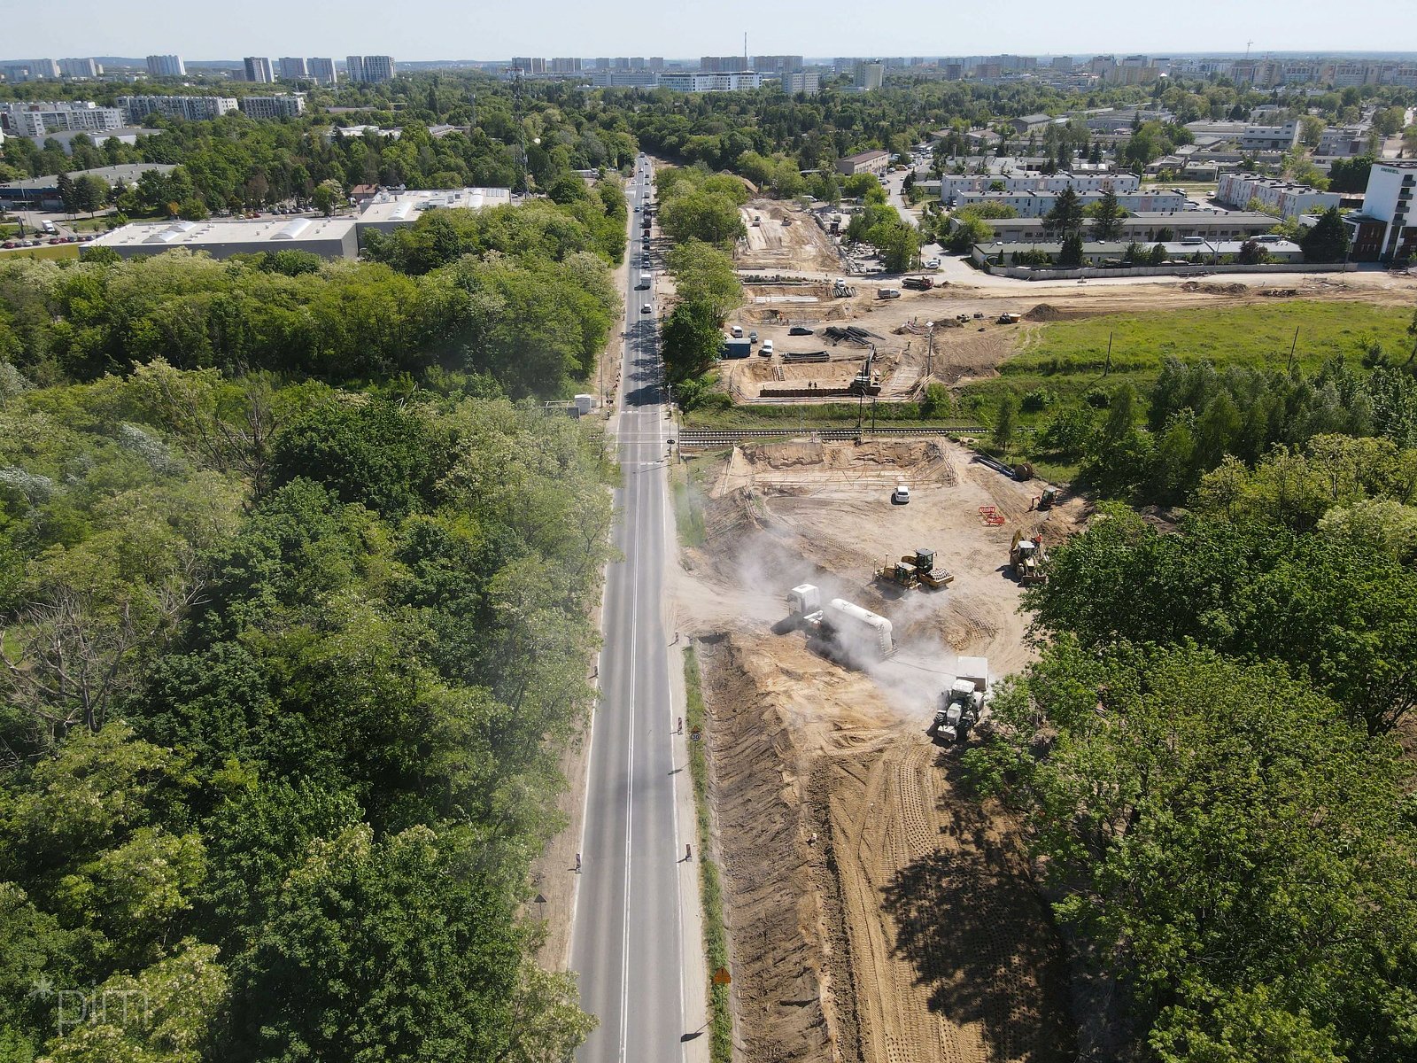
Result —
M89 247L112 248L122 258L160 255L186 248L231 258L262 251L309 251L322 258L354 258L354 218L258 218L208 221L143 221L105 232Z

